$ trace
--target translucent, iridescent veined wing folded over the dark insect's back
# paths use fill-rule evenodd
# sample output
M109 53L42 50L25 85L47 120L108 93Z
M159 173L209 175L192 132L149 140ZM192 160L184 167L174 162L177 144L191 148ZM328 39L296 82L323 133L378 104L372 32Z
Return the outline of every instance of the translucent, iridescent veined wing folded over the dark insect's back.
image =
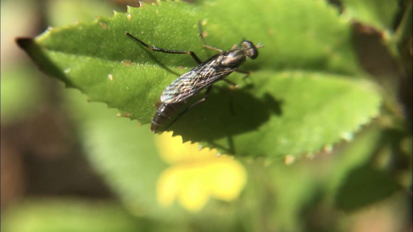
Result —
M209 59L183 74L166 86L162 92L161 101L168 104L183 102L218 80L222 80L236 69L221 66L219 63L218 59Z

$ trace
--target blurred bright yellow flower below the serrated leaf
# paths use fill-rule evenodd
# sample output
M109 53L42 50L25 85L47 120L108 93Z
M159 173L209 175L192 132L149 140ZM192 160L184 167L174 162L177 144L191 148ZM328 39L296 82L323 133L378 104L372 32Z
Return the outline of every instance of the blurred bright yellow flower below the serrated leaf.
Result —
M198 143L182 143L172 133L157 136L161 159L170 163L158 178L159 204L170 206L175 199L188 211L199 211L210 197L236 199L245 186L244 166L233 157L217 156L216 149L198 150Z

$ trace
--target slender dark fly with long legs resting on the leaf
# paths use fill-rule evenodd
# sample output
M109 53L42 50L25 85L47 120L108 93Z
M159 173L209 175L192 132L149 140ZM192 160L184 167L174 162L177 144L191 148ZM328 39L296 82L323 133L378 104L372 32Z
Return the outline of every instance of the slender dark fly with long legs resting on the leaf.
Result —
M211 47L206 45L204 42L204 37L202 36L202 26L201 22L198 21L199 27L199 37L201 38L202 46L211 50L218 51L219 53L210 57L204 62L197 57L197 55L192 51L180 51L180 50L169 50L160 47L150 46L144 43L142 40L131 35L126 31L126 35L131 37L133 40L138 41L143 46L147 47L149 50L154 52L165 52L174 54L189 54L198 66L178 77L172 83L166 86L164 92L161 95L161 104L159 105L154 117L152 118L151 130L153 132L159 132L159 129L164 125L164 123L171 118L171 116L182 106L189 98L197 95L204 89L207 89L205 95L202 99L192 104L190 107L182 111L169 125L172 125L180 116L185 114L188 110L195 107L197 104L204 102L211 87L214 83L219 80L224 80L230 85L238 87L237 84L231 82L230 80L224 79L230 73L234 71L249 74L247 71L237 70L238 67L248 59L255 59L258 56L257 48L263 47L262 45L254 45L251 41L244 40L241 43L241 47L236 44L229 51L223 51L221 49ZM168 128L167 127L167 128ZM166 129L167 129L166 128Z

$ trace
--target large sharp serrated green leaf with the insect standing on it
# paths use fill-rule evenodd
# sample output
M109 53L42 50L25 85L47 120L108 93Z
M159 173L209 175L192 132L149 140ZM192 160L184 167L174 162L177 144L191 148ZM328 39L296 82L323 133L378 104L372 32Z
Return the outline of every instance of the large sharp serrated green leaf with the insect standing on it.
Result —
M297 155L348 137L377 115L380 97L358 79L350 25L323 1L159 2L18 43L45 72L145 124L165 86L196 64L186 54L151 52L125 31L204 60L214 52L202 49L198 20L210 45L230 49L247 37L266 47L242 66L253 71L249 80L230 76L240 90L217 83L208 101L171 127L184 140L232 154Z

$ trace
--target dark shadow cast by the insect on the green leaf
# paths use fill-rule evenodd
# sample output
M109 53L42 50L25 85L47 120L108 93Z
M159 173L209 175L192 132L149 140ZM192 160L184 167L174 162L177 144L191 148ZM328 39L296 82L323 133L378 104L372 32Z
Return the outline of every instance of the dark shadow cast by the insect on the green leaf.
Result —
M192 141L207 141L214 144L214 140L227 137L229 147L221 147L218 144L216 146L235 154L233 135L257 130L268 121L271 114L282 114L282 100L275 99L268 92L260 99L254 97L250 91L254 91L252 85L238 90L214 86L205 102L188 111L169 129L174 135L182 135L184 142L191 138ZM199 97L191 99L180 110L198 99Z

